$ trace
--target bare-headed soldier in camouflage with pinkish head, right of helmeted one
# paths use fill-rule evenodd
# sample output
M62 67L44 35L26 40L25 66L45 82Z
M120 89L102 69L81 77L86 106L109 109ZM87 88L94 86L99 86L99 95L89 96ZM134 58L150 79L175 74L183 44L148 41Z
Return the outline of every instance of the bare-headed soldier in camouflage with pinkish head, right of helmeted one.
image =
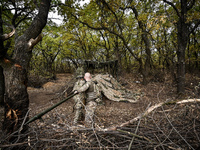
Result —
M85 112L85 124L87 127L92 127L93 119L94 119L94 112L96 110L96 99L97 94L95 92L95 83L91 80L90 73L86 73L84 76L86 83L77 90L78 93L86 94L86 112Z

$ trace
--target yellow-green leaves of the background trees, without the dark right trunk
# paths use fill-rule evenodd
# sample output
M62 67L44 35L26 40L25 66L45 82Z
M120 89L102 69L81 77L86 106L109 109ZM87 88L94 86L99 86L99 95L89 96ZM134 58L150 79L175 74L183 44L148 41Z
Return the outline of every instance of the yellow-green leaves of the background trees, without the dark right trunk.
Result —
M54 1L55 4L60 2ZM166 68L174 66L177 50L176 23L178 17L175 10L163 1L95 1L81 4L80 0L65 1L56 8L64 17L60 26L49 25L43 31L45 35L38 52L34 51L38 60L41 50L46 49L48 55L59 54L54 66L64 64L67 68L80 66L83 60L108 61L118 59L122 68L138 70L143 67L147 55L150 55L151 66ZM180 3L173 4L180 9ZM199 1L188 12L188 23L198 21ZM137 11L137 14L135 13ZM144 41L149 40L150 54ZM190 36L186 57L198 62L199 29L194 31L195 38ZM39 53L40 52L40 53ZM72 65L73 64L73 65ZM58 68L57 68L58 69Z

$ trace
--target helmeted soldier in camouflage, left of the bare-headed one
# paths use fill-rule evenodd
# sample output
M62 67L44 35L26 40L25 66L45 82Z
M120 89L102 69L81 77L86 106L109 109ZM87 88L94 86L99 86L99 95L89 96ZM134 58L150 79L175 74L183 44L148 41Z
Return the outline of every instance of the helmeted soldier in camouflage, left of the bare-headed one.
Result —
M76 70L76 83L73 87L73 91L77 91L80 87L85 84L84 80L84 70L83 68L78 68ZM74 125L77 125L79 121L83 118L83 104L85 101L85 93L79 93L73 97L75 101L74 109L75 109L75 117L74 117Z

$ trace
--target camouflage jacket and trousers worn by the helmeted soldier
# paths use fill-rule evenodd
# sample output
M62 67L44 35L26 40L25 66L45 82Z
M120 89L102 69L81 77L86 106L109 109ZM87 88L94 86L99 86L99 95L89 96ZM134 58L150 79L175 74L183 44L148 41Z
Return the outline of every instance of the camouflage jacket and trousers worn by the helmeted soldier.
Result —
M78 90L80 87L82 87L85 84L85 80L78 79L78 81L75 83L73 91ZM74 117L74 124L77 124L78 121L81 121L83 118L83 104L85 100L85 93L79 93L73 97L75 102L75 117Z

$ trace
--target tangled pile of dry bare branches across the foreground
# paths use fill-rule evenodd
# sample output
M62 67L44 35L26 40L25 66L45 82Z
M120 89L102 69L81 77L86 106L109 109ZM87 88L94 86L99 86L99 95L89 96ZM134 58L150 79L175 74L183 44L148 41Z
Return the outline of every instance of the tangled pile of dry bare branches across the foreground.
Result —
M69 116L54 112L44 118L45 122L31 124L25 143L0 147L26 144L27 149L198 149L199 104L199 99L149 104L137 117L107 128L72 127Z

